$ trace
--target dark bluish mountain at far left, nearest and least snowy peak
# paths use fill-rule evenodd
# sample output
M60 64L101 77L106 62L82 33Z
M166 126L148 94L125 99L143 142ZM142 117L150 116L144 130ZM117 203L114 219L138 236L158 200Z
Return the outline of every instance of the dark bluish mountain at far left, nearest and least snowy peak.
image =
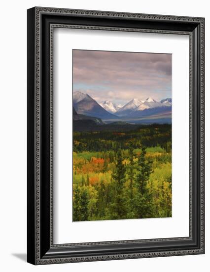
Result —
M89 94L80 91L73 92L73 107L78 114L101 119L116 119L117 117L106 111Z

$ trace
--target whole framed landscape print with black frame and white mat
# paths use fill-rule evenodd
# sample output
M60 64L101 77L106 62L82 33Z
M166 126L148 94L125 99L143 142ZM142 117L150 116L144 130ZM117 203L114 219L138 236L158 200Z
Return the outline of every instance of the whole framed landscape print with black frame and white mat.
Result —
M204 18L28 10L28 262L204 254Z

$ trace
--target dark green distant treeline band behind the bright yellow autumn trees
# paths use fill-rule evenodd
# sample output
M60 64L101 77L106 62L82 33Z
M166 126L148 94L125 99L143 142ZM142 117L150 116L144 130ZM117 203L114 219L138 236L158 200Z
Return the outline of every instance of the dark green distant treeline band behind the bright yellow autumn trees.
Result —
M130 131L74 132L73 151L106 151L161 146L171 151L172 127L170 124L140 125Z

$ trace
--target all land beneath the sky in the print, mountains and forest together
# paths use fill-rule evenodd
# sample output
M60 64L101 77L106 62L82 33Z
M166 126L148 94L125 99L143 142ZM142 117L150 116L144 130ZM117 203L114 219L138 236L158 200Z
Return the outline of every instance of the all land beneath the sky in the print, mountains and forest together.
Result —
M171 105L73 94L74 222L172 216Z

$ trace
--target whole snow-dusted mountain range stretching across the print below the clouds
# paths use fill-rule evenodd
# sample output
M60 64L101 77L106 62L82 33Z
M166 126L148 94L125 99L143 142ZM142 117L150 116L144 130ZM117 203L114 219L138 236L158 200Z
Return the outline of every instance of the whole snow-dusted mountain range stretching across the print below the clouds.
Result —
M73 107L77 114L100 118L102 120L129 120L140 117L152 118L167 116L171 118L172 98L156 101L152 97L146 100L134 98L124 106L117 105L109 100L98 103L90 95L80 91L73 92Z

